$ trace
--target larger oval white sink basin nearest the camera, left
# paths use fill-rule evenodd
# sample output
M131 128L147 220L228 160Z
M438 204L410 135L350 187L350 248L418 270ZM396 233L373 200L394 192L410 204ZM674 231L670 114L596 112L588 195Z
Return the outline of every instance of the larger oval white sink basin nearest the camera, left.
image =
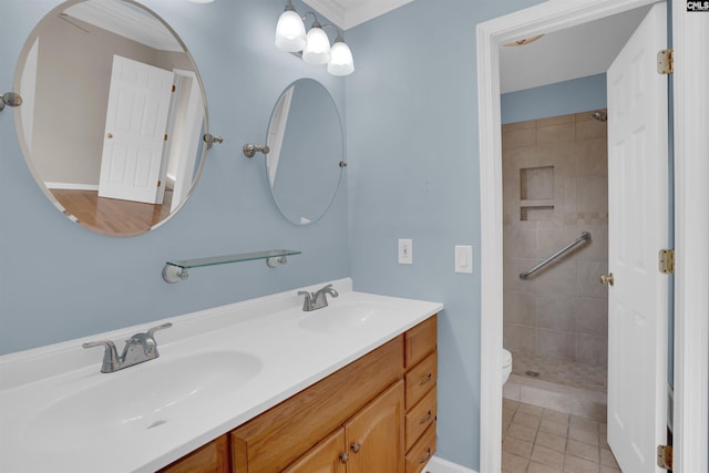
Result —
M157 429L199 405L229 395L261 370L260 359L210 351L172 360L161 356L40 407L25 434L42 451L68 451L116 435Z

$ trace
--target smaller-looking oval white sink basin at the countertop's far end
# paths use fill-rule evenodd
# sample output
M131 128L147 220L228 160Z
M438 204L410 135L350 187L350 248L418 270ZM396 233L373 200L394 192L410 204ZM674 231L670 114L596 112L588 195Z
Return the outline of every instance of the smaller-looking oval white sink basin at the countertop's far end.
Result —
M337 333L368 327L393 308L382 302L346 302L308 312L298 325L315 332Z

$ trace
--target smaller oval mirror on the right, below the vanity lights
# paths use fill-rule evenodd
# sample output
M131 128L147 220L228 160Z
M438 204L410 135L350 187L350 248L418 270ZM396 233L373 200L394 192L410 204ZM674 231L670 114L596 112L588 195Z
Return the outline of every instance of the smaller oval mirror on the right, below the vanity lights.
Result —
M290 84L268 125L266 176L280 213L296 225L317 222L340 183L345 138L337 105L312 79Z

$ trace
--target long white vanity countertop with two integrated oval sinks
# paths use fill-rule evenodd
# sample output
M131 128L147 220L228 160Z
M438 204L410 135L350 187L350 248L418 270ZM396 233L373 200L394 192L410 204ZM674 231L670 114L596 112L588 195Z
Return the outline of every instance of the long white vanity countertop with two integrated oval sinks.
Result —
M311 312L296 294L325 284L0 357L0 471L153 472L443 309L332 284L340 296ZM362 317L346 326L329 318L352 307ZM81 348L109 339L120 352L167 321L161 357L115 373ZM184 395L167 402L174 387Z

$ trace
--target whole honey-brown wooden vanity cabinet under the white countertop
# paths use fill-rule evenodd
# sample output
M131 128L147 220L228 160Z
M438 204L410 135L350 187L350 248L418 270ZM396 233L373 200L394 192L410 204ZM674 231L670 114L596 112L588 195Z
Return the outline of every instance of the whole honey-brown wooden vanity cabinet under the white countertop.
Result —
M436 316L163 473L420 473L435 452Z

